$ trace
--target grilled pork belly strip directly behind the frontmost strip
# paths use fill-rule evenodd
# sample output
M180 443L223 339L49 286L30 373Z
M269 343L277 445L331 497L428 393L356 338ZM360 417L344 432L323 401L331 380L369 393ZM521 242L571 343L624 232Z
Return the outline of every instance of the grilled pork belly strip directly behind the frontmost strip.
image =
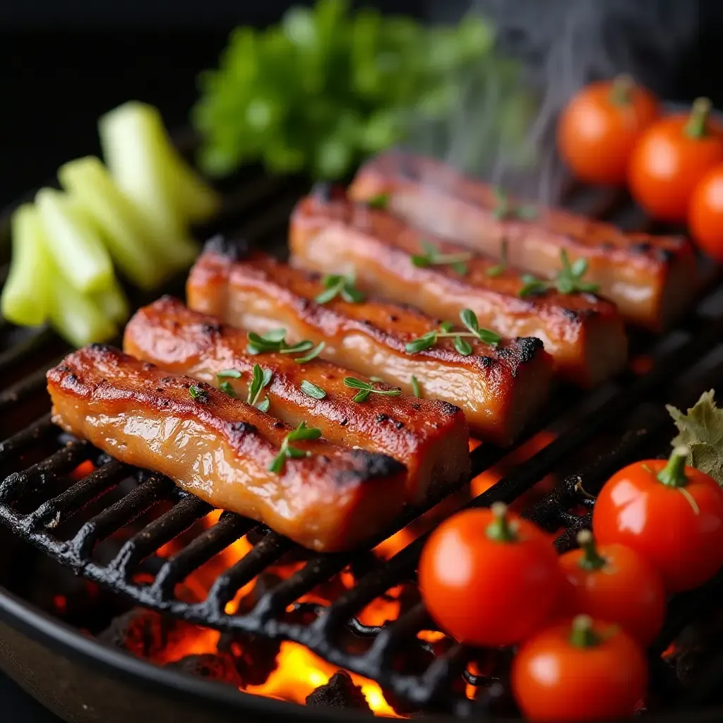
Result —
M354 390L343 385L349 376L346 369L318 358L297 364L288 354L247 354L247 343L244 331L220 325L214 317L164 296L136 312L123 346L128 354L168 372L216 387L228 382L241 399L247 398L254 364L259 364L273 372L260 396L268 393L271 416L292 427L304 421L335 444L398 459L407 468L410 502L422 500L432 481L435 487L449 487L469 476L469 432L460 408L406 395L372 394L363 404L354 403ZM241 377L218 377L227 369ZM316 399L301 391L304 380L324 390L325 397Z

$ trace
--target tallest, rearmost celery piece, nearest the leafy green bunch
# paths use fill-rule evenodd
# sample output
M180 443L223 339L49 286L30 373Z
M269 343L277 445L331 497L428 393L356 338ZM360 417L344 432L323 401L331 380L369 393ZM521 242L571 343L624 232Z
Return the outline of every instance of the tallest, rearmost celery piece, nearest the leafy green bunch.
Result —
M157 108L130 101L100 119L103 155L119 186L147 198L155 185L183 221L205 221L220 205L218 194L184 161L171 143Z

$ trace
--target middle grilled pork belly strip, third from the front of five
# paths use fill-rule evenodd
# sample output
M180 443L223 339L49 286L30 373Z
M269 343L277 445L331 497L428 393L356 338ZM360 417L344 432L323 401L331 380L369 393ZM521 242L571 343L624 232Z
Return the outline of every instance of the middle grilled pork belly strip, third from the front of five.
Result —
M323 341L322 356L329 361L382 377L406 394L414 376L425 398L461 406L471 432L500 445L510 443L547 398L552 363L539 339L521 338L499 348L477 342L471 356L462 356L452 339L444 338L407 354L405 343L437 328L437 320L381 301L353 304L337 297L316 304L313 299L324 289L317 274L264 254L234 260L234 249L226 250L207 247L191 270L192 309L257 333L283 327L289 343Z

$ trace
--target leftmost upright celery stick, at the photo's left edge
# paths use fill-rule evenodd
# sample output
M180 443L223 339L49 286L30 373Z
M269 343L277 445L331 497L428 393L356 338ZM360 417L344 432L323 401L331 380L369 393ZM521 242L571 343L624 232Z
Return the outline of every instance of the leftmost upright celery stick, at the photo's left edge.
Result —
M50 269L43 243L43 224L30 203L12 215L12 260L0 296L0 312L20 326L38 326L48 317Z

